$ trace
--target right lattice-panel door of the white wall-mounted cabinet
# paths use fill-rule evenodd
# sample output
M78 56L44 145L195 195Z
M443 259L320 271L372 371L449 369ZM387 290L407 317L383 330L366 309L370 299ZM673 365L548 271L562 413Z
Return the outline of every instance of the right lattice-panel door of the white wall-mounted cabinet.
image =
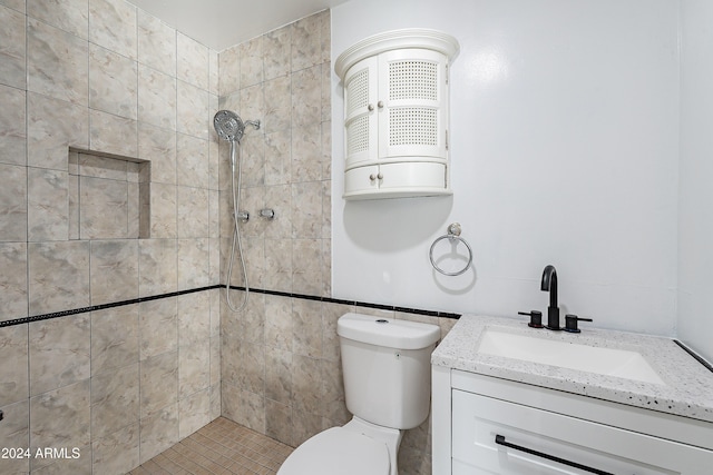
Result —
M447 158L447 58L401 49L379 55L379 157Z

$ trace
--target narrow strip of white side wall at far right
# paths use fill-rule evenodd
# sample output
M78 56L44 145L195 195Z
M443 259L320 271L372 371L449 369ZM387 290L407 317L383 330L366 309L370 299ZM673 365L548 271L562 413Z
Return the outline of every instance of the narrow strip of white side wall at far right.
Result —
M713 2L681 8L678 336L713 360Z

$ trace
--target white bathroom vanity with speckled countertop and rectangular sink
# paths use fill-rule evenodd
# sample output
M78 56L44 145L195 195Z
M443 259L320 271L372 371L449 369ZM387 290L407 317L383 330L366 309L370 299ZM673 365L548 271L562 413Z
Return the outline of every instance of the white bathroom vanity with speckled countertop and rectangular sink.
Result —
M671 339L463 316L431 365L434 475L713 473L713 373Z

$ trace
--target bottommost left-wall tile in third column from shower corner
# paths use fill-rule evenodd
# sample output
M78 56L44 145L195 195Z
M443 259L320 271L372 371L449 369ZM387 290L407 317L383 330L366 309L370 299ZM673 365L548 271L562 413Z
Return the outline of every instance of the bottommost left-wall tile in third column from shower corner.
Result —
M139 423L105 437L92 437L91 467L95 474L123 474L139 465Z

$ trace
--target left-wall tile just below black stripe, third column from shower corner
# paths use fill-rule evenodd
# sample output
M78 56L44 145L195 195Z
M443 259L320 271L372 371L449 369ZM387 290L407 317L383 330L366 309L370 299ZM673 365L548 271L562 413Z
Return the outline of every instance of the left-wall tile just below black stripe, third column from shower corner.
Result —
M91 376L139 359L138 304L91 313Z

